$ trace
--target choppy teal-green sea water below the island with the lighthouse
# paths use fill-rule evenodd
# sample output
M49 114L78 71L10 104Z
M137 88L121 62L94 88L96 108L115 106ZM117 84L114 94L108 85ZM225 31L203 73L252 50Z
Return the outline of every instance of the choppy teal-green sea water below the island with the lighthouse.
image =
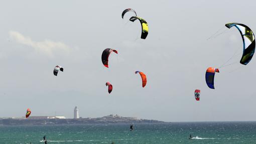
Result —
M0 143L256 143L256 122L0 126ZM189 134L193 139L188 139Z

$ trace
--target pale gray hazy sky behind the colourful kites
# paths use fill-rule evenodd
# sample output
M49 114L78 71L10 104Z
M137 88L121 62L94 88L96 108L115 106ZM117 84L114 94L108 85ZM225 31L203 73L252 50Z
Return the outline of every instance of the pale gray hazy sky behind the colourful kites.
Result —
M3 1L0 5L0 116L108 114L165 121L256 120L256 58L239 64L237 22L256 31L255 1ZM136 10L149 24L146 40ZM221 29L222 28L222 29ZM221 29L223 34L207 40ZM225 31L227 30L227 31ZM112 48L109 68L102 51ZM219 67L215 90L205 83ZM64 72L53 75L56 65ZM148 77L145 88L134 74ZM113 85L109 95L105 82ZM201 89L196 101L194 90Z

